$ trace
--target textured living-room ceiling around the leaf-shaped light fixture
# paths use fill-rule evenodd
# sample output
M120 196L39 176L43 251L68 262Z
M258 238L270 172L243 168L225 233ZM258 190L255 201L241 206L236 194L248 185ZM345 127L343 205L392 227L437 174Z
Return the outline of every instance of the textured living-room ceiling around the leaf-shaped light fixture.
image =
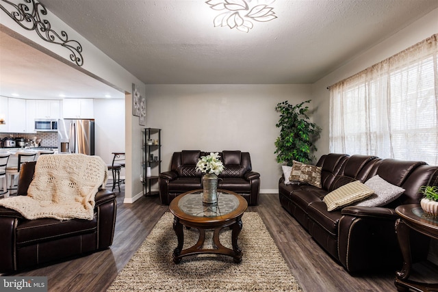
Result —
M40 0L49 13L150 84L314 83L438 8L437 0L246 1L270 3L277 18L254 22L245 33L214 27L222 11L203 0ZM3 55L3 39L0 50ZM16 51L17 58L22 51ZM3 92L8 68L1 62ZM40 72L47 67L36 58L32 63ZM75 77L47 74L53 84L76 93L79 83L72 88L66 82ZM44 74L34 73L33 81L38 75Z

